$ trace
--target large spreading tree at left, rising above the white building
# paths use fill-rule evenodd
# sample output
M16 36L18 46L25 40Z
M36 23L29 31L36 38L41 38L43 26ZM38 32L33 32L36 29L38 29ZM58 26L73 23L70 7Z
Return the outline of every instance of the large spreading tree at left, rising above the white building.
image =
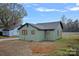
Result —
M12 30L21 25L21 20L27 13L21 4L0 4L0 28Z

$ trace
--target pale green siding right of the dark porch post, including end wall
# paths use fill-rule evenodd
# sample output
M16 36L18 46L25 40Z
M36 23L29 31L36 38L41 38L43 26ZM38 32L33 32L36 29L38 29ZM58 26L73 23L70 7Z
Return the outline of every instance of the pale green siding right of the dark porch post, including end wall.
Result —
M48 31L48 32L49 33L47 34L47 40L56 40L61 37L62 29L61 29L61 26L58 25L57 29L55 29L54 31Z

